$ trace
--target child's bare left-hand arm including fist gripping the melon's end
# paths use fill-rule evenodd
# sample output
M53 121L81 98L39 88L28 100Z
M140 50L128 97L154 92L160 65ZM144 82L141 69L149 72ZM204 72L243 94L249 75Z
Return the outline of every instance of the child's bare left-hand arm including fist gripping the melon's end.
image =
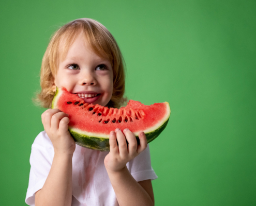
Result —
M57 109L42 114L42 123L54 147L49 175L35 196L35 205L71 205L72 156L76 145L68 132L69 118Z

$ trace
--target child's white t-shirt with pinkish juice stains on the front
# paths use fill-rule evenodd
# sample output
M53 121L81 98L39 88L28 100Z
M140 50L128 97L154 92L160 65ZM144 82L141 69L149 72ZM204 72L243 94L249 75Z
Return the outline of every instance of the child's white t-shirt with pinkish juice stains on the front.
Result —
M72 158L72 206L118 205L104 166L104 158L108 153L76 145ZM42 188L47 179L53 156L52 142L47 133L42 131L32 145L31 170L25 199L28 205L35 205L35 193ZM157 178L151 166L148 146L126 166L136 181Z

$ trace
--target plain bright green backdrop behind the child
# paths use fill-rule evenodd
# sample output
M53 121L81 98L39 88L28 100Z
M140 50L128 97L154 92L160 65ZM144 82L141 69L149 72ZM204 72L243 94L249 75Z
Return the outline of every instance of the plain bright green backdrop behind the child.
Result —
M26 205L42 56L53 31L84 17L121 47L128 98L170 103L150 143L156 205L256 205L254 0L1 1L0 10L0 205Z

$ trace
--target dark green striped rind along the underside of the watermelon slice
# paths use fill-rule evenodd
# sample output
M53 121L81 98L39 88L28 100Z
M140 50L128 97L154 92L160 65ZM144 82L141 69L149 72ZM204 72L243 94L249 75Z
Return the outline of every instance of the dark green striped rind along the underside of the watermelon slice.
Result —
M159 128L152 132L145 133L147 138L147 143L155 140L158 135L164 130L167 126L169 118L165 121ZM88 149L100 150L100 151L110 151L109 147L109 138L98 138L95 136L87 136L85 134L80 134L72 129L69 129L69 132L79 146L86 147ZM137 142L139 143L139 137L136 136Z

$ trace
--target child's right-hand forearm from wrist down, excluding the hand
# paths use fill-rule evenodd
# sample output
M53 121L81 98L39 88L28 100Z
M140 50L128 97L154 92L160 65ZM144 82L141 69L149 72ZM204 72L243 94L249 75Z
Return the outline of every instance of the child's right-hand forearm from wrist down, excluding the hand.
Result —
M154 205L148 193L134 180L126 166L121 171L107 171L120 206Z

